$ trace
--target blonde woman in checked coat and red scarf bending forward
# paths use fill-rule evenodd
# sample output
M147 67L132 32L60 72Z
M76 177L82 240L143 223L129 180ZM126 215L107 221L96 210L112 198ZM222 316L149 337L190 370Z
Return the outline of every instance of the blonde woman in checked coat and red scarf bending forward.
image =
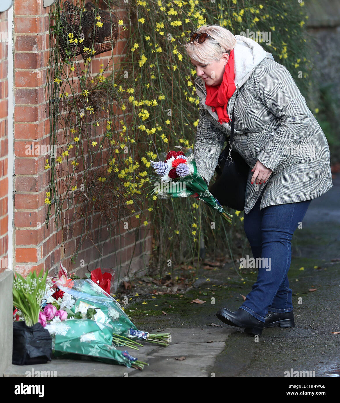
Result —
M311 200L332 187L327 140L288 70L257 42L204 25L184 46L197 73L197 170L208 184L235 103L233 149L250 167L244 230L254 258L271 263L258 267L237 311L222 308L216 316L253 335L294 327L287 277L291 240Z

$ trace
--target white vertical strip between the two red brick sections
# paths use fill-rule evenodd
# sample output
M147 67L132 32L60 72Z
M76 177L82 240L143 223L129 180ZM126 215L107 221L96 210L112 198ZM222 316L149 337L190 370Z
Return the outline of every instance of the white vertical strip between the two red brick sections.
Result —
M13 270L13 175L14 175L14 58L13 7L8 9L8 269Z

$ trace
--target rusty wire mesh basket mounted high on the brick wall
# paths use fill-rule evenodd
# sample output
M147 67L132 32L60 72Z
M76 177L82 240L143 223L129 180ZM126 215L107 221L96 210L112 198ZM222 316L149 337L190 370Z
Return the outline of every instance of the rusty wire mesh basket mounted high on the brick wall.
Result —
M63 59L79 54L86 59L112 50L116 46L117 35L118 18L113 13L96 10L91 2L86 3L82 10L69 1L64 2L59 35Z

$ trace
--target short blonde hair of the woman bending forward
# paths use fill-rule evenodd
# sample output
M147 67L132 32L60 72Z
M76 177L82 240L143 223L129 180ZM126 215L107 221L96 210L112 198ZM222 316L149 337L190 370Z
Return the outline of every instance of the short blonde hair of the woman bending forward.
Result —
M202 44L194 42L184 44L187 54L193 59L202 64L211 63L214 60L219 60L223 53L233 50L236 45L234 35L220 25L202 25L195 33L206 32L214 39L208 37Z

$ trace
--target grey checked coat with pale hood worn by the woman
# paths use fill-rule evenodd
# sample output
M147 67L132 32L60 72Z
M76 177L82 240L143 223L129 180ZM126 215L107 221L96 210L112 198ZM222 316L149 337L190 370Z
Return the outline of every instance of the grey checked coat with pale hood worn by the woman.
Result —
M250 167L244 212L250 212L260 196L260 210L319 197L332 187L330 149L321 127L288 70L254 40L241 35L235 38L236 90L227 112L231 118L239 89L233 149ZM194 155L199 174L210 182L229 140L230 123L221 125L217 113L205 104L205 83L198 76L195 89L199 122ZM273 173L266 183L256 186L250 180L257 160Z

